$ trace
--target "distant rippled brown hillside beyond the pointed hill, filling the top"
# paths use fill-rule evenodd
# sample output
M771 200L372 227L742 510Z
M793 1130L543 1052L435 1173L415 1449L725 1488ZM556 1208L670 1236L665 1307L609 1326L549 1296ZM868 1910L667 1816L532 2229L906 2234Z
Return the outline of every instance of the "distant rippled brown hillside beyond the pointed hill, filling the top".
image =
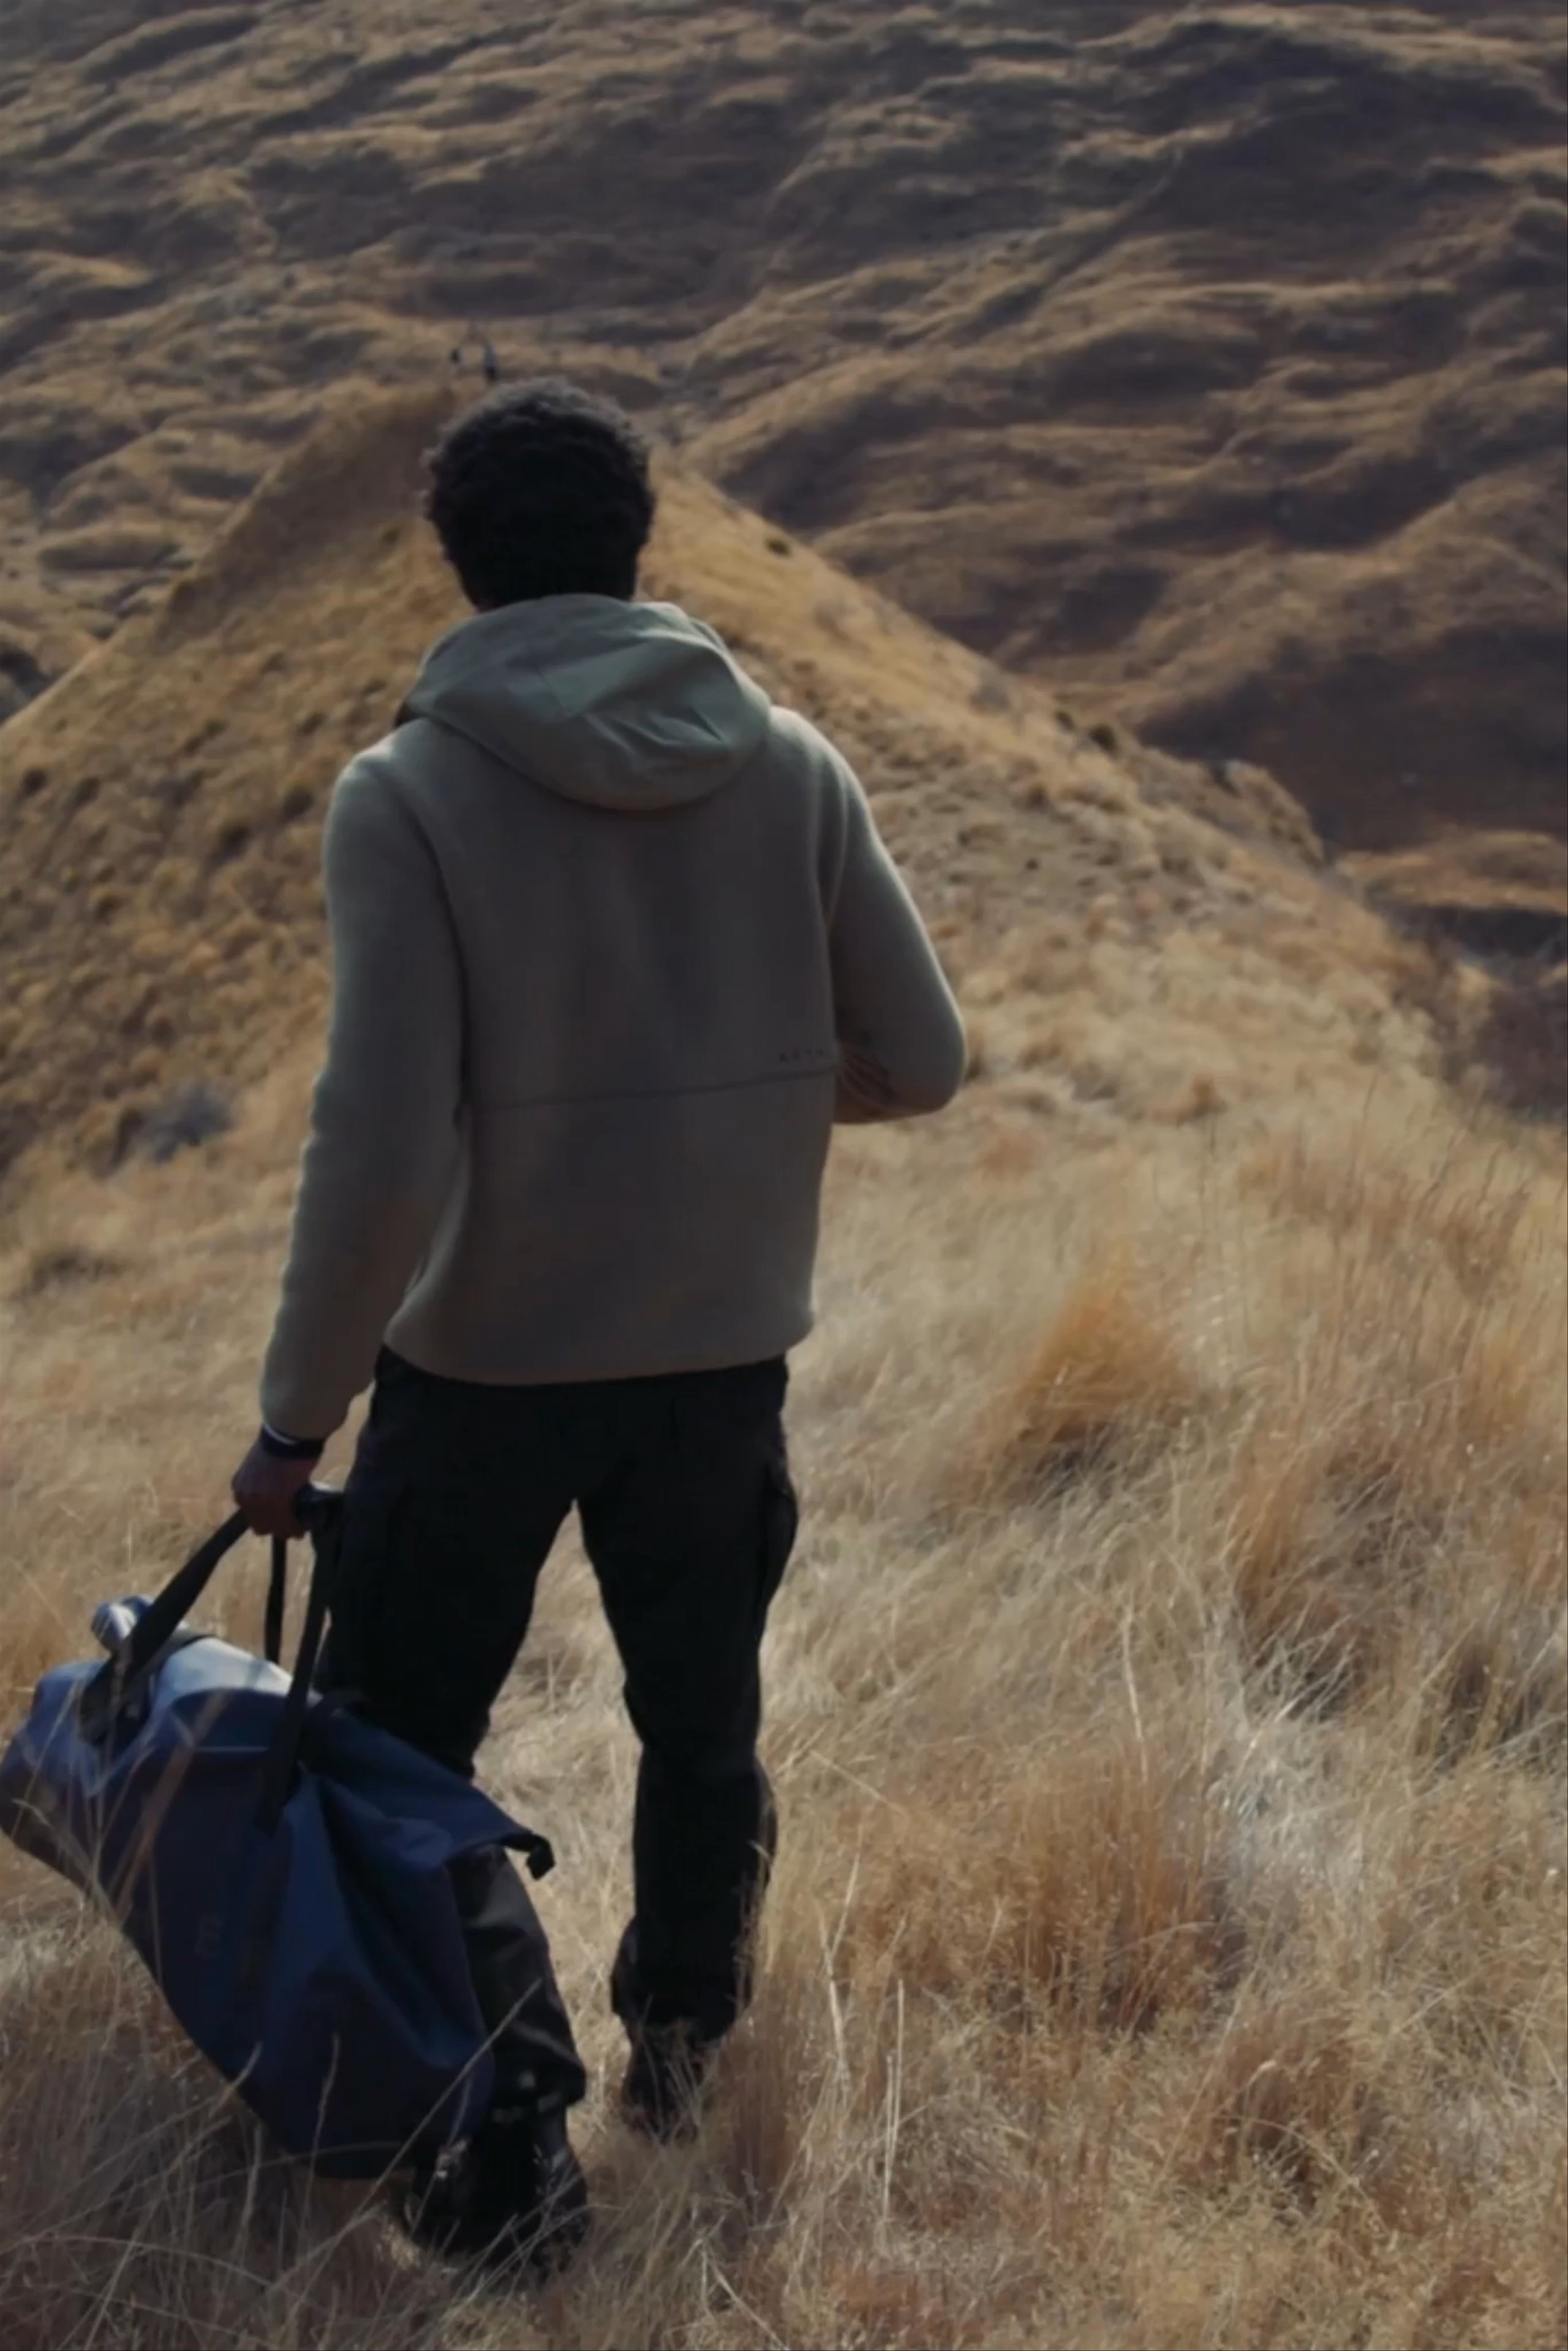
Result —
M1561 839L1554 0L7 19L12 703L477 320L1349 846L1462 828L1441 903Z

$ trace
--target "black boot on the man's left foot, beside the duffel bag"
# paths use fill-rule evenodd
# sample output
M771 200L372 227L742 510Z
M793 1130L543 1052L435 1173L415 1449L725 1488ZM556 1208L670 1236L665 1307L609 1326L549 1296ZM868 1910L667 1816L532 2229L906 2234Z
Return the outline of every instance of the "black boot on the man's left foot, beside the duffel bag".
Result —
M418 2245L449 2259L559 2276L590 2229L567 2111L491 2111L468 2146L414 2179L400 2217Z

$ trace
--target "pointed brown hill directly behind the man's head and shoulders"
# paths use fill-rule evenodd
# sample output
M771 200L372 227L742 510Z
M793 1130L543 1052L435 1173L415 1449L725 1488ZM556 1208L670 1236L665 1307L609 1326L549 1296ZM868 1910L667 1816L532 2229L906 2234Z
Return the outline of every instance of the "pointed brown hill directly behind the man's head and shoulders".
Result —
M7 724L2 1159L61 1126L99 1164L158 1143L179 1089L228 1093L315 1023L327 790L458 611L414 498L449 397L346 395ZM1483 1018L1486 985L1324 875L1262 771L1086 734L677 463L646 588L856 759L1020 1110L1356 1089L1436 1070Z

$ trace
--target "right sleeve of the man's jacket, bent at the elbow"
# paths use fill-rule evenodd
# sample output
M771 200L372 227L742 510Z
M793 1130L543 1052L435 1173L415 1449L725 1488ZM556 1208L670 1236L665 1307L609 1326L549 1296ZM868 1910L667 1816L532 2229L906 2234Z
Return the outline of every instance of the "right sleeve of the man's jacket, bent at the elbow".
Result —
M842 769L844 863L827 919L839 1039L835 1119L912 1119L943 1110L969 1063L959 1006L860 783Z

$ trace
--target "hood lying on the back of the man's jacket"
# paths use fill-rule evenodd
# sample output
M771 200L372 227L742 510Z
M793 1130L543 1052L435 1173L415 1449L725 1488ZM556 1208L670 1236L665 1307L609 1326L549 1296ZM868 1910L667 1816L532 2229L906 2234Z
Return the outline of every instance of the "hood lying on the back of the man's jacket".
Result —
M555 595L449 630L400 717L435 719L595 809L679 809L745 766L769 698L679 604Z

